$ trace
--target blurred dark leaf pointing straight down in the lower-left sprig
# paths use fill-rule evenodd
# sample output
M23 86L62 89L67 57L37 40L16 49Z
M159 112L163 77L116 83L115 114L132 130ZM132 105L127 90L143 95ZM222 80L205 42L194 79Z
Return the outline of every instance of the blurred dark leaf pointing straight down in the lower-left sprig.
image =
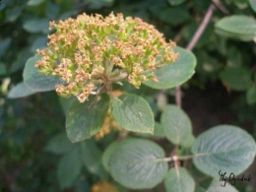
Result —
M80 174L82 166L79 148L74 149L61 158L57 167L57 175L59 185L62 189L71 187L74 184Z

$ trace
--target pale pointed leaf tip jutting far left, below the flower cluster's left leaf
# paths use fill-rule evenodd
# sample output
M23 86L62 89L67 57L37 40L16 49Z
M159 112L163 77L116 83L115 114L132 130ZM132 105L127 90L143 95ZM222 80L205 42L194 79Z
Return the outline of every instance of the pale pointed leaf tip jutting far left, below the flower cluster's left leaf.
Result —
M24 96L31 96L35 94L33 90L29 89L24 82L16 85L9 93L9 98L20 98Z

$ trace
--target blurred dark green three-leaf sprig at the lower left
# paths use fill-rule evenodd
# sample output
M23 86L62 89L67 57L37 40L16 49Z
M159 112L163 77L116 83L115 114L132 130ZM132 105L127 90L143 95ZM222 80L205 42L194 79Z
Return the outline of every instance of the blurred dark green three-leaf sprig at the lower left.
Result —
M106 174L101 163L102 152L93 140L72 144L66 133L60 133L49 140L45 151L63 155L57 165L57 176L61 188L73 186L83 166L99 178L105 178Z

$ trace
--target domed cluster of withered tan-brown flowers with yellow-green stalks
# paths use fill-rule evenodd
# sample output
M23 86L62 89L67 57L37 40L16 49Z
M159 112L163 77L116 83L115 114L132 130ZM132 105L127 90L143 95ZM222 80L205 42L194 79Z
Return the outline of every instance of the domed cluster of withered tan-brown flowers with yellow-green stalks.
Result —
M56 86L58 95L74 95L81 102L124 79L137 89L149 79L157 82L154 73L145 72L178 56L173 52L175 43L165 42L154 26L122 14L105 18L83 14L51 22L50 29L55 32L48 35L47 48L37 50L41 59L35 67L41 74L63 80L64 84Z

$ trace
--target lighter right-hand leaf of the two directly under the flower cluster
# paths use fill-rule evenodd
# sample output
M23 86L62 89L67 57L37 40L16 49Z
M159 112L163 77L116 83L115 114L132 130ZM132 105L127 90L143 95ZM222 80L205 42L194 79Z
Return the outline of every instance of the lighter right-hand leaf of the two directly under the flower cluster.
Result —
M112 100L111 112L124 129L141 133L154 132L154 114L141 96L125 94Z

